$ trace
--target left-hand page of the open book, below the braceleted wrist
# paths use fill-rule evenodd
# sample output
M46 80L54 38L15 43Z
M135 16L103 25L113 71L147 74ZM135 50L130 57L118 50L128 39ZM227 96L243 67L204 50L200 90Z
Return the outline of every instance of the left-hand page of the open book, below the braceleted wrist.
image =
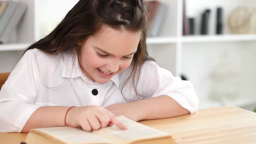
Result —
M93 134L92 132L83 131L80 128L55 127L33 129L32 132L41 135L50 135L56 137L59 141L67 144L87 144L87 143L111 143L111 141Z

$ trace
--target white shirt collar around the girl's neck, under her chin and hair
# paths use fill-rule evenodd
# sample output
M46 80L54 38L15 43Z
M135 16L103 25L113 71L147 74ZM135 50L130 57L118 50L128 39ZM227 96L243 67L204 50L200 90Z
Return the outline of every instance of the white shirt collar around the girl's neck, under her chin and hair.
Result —
M62 77L65 78L72 78L75 79L77 77L82 77L85 82L96 84L96 82L92 82L89 78L85 76L85 74L82 72L82 69L79 65L78 56L75 55L69 55L64 54L63 55L63 71L62 71ZM115 85L119 88L119 74L116 74L111 79L112 82L115 83Z

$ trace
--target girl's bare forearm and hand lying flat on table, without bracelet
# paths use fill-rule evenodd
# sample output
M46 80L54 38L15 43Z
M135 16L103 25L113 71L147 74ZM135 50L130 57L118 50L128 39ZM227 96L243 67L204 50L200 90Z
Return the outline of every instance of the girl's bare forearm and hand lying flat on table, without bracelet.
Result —
M173 98L166 95L131 103L109 105L106 109L115 116L124 115L134 121L170 118L189 113Z

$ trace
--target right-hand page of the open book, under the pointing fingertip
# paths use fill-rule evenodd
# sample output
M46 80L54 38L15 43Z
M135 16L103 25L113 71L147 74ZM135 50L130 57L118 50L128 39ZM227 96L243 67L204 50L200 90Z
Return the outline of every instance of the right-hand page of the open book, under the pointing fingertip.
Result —
M115 141L116 143L135 141L139 139L147 139L152 137L168 137L171 135L164 133L163 131L150 128L146 125L132 121L125 116L117 117L125 126L127 130L120 130L117 126L102 128L93 133L102 137Z

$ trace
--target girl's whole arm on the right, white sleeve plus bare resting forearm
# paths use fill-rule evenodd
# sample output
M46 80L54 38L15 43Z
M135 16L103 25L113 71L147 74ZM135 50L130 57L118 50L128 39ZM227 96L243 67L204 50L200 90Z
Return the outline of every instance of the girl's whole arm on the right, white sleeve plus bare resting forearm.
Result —
M120 78L125 75L127 73L121 73ZM134 88L133 81L128 82L121 89L122 96L127 101L134 102L106 107L116 116L125 115L139 121L170 118L197 111L198 98L191 82L174 77L171 72L160 68L153 61L147 61L142 65L137 88Z

